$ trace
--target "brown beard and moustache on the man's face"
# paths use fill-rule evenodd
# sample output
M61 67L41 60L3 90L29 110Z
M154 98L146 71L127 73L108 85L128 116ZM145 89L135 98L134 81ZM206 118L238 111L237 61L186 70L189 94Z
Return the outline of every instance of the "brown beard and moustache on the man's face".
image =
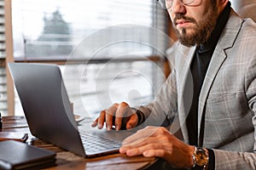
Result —
M196 44L202 44L207 42L211 37L212 31L215 29L218 19L218 9L216 4L212 4L212 8L208 9L207 14L202 18L201 21L197 22L195 19L187 17L183 14L177 14L173 20L173 29L177 35L179 42L184 46L191 47ZM193 28L194 32L188 34L186 28L182 28L181 31L177 30L174 25L177 20L187 20L195 24Z

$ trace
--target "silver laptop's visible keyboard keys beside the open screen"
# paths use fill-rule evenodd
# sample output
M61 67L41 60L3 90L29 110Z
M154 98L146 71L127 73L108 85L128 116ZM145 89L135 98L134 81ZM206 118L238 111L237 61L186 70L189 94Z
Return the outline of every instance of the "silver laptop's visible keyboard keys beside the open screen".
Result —
M85 150L89 152L97 152L101 150L112 150L113 148L119 149L121 142L96 136L91 133L79 131L84 144Z

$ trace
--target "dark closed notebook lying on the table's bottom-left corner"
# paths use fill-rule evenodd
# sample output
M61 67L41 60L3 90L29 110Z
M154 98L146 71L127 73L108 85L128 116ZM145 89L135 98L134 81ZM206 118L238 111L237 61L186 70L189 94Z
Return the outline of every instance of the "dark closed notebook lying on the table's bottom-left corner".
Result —
M0 169L41 169L55 166L55 152L14 140L0 142Z

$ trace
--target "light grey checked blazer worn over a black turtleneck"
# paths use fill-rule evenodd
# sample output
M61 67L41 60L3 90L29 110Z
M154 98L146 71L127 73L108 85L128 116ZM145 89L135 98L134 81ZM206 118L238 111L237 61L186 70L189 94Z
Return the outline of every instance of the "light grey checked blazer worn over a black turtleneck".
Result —
M192 81L189 65L195 47L177 42L172 50L172 74L154 102L139 110L147 117L143 126L160 126L167 116L171 132L188 143L189 127L184 122L193 88L184 91L184 84ZM213 149L216 169L256 169L256 24L241 20L233 10L201 88L199 132L203 114L202 146Z

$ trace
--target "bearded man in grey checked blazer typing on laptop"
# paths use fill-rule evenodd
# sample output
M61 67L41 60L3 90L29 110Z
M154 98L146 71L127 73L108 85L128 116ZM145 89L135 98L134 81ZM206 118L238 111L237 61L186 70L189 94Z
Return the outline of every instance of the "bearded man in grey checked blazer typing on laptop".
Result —
M256 169L255 23L228 0L162 3L178 37L171 75L152 103L136 110L114 104L92 126L145 127L124 140L119 151L127 156L158 156L181 168ZM160 127L164 120L170 128Z

